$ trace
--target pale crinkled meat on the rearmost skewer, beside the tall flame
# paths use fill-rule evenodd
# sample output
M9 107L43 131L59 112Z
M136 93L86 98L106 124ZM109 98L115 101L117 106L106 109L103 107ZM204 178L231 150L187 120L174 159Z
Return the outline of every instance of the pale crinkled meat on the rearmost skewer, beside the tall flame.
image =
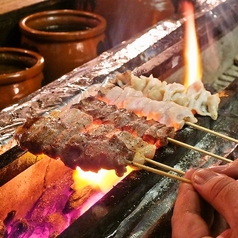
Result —
M218 94L211 94L204 88L201 81L191 84L188 89L179 83L167 84L150 77L133 75L130 71L118 74L113 83L120 87L131 87L141 91L144 96L157 101L172 101L181 106L188 107L194 113L202 116L210 116L216 120L220 98Z

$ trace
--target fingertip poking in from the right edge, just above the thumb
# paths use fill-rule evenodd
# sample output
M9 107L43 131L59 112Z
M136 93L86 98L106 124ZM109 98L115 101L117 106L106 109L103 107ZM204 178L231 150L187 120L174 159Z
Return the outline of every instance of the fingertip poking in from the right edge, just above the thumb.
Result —
M217 173L226 174L234 179L238 179L238 159L225 165L211 166L209 169Z

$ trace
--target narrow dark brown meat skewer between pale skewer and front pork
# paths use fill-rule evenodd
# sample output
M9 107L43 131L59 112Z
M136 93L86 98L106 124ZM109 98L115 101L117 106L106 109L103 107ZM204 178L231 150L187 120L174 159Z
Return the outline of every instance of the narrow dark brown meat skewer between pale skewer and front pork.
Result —
M133 112L128 112L123 108L118 109L114 105L107 105L95 97L85 98L72 105L72 108L78 108L91 115L95 121L114 124L118 129L135 134L158 147L167 145L167 138L174 136L173 127L166 127L154 120L138 117Z

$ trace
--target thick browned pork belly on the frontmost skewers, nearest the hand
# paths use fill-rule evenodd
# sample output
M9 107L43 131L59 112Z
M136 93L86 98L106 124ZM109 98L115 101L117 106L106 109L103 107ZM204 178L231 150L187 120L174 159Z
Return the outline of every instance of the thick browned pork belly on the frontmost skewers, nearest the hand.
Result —
M60 158L72 169L114 169L118 176L126 171L127 161L144 163L156 150L155 145L113 124L93 123L91 115L77 108L28 119L16 131L15 139L23 149Z

